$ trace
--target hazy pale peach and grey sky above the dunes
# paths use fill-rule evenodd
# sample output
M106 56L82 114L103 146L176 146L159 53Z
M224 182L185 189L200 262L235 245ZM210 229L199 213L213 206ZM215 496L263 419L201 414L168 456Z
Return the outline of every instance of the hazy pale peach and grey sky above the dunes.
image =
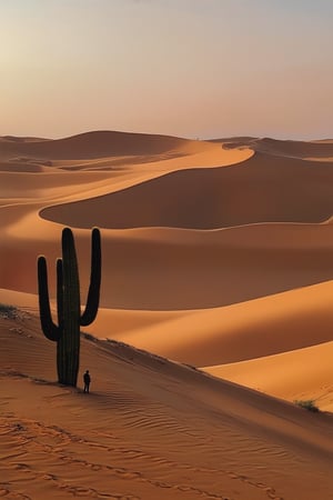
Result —
M0 0L0 136L333 138L332 0Z

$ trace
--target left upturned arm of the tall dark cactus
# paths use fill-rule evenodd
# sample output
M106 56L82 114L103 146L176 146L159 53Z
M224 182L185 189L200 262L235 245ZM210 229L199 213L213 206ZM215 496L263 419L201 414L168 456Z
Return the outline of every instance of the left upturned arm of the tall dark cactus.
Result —
M61 337L61 329L52 320L48 286L48 267L43 256L38 258L38 292L42 331L47 339L57 342Z

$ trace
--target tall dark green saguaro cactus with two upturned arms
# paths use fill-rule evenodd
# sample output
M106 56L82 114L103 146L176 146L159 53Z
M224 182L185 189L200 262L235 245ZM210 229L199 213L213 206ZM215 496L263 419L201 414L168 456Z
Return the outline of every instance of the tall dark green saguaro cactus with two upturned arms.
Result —
M48 268L43 256L38 258L38 291L41 328L57 342L58 380L77 387L80 362L80 326L95 319L101 284L101 236L98 228L91 234L91 274L84 312L81 314L78 259L73 233L62 230L62 259L57 260L58 324L53 322L49 299Z

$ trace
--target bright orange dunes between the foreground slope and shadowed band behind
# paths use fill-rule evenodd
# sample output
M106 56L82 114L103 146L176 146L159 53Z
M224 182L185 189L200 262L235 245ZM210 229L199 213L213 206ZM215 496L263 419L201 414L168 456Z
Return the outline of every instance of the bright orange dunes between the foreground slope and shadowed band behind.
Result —
M85 331L209 366L215 376L280 398L314 399L332 411L332 287L322 283L205 311L100 309ZM37 311L33 294L0 290L0 302Z

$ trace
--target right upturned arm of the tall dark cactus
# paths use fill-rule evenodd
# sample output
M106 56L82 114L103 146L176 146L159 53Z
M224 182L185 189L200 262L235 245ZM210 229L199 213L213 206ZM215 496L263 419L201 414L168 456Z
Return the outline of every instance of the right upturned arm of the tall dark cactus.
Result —
M87 327L97 317L100 302L101 287L101 233L98 228L93 228L91 234L91 271L90 284L87 297L87 306L80 319L80 324Z

